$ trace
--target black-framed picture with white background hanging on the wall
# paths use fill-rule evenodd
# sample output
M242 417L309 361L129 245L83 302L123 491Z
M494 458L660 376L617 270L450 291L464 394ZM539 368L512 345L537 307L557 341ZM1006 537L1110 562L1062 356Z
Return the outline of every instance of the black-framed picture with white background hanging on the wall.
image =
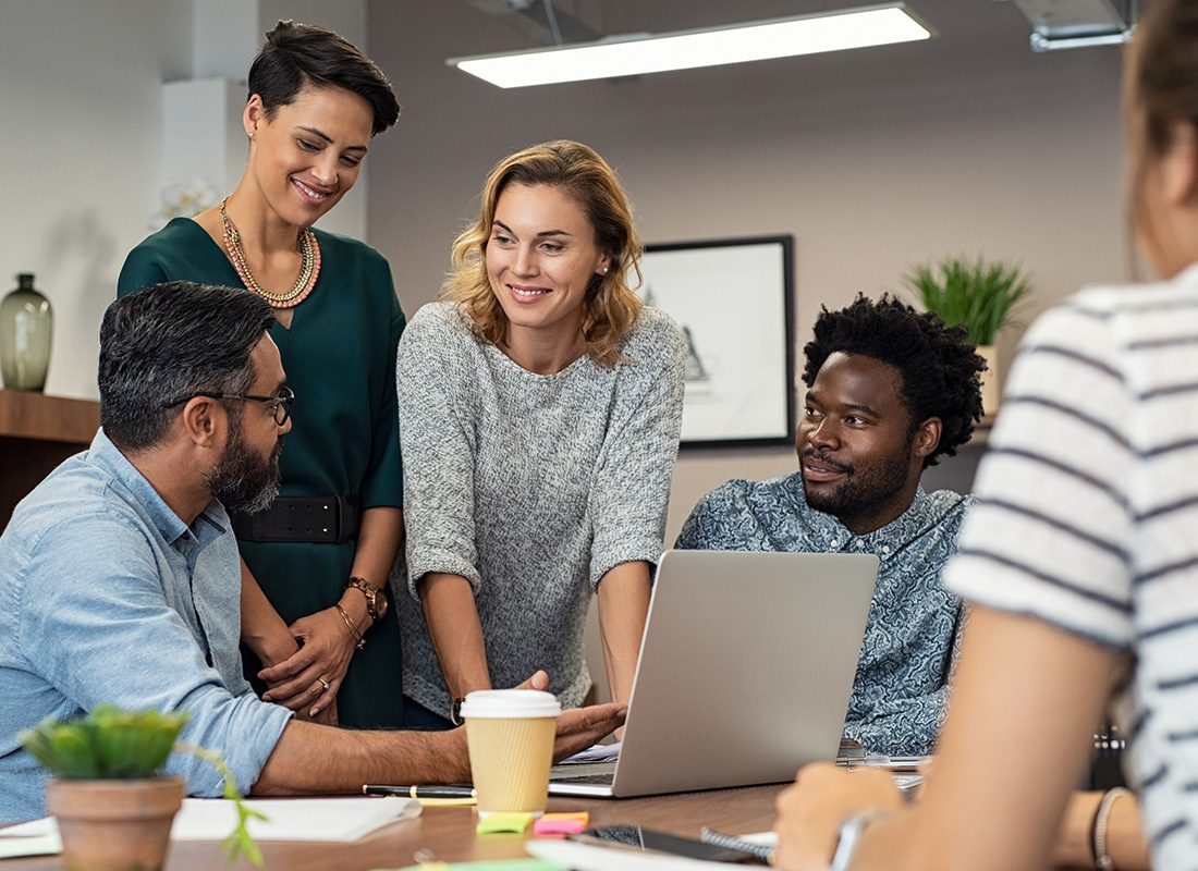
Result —
M792 236L646 247L641 298L686 337L683 447L794 437Z

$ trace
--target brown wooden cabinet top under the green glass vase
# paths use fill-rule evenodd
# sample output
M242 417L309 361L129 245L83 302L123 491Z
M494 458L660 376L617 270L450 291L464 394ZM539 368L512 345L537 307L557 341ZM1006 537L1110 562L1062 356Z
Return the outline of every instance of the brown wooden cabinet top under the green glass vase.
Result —
M99 403L0 391L0 530L42 478L91 444Z

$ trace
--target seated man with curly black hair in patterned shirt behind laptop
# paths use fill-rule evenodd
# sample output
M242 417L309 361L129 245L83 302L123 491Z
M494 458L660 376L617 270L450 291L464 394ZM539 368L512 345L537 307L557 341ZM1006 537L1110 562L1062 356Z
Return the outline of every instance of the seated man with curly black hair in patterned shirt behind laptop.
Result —
M920 476L981 416L974 351L962 327L889 296L824 308L804 347L799 471L724 484L678 537L686 549L881 560L845 722L875 752L930 752L944 716L962 613L940 570L972 500L925 492Z

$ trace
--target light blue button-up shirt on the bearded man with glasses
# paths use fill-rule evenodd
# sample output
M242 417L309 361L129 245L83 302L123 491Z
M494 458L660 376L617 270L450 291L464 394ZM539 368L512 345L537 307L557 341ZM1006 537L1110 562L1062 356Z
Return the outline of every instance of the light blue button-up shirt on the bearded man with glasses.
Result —
M190 712L182 739L220 750L248 791L291 714L242 676L240 595L220 503L187 526L103 430L38 484L0 536L0 823L46 812L17 733L103 702ZM194 756L167 769L222 793Z

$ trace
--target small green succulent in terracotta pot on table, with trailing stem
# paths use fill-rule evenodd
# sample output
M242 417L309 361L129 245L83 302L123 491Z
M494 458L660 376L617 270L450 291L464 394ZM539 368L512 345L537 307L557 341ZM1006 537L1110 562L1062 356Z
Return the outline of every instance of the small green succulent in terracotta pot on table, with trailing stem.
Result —
M224 776L225 798L237 804L237 824L225 840L230 859L262 857L246 827L261 813L241 802L220 755L176 744L187 713L120 710L102 704L66 722L49 718L19 738L54 776L46 786L47 810L58 818L63 864L72 871L161 869L170 825L183 800L183 781L161 774L171 751L190 752Z

